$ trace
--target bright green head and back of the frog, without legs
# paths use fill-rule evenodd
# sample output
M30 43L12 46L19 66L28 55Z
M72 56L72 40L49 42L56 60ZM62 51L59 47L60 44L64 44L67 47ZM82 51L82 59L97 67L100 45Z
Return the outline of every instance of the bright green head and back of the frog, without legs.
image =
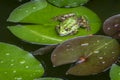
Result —
M77 23L77 17L69 17L56 27L57 32L60 36L65 36L68 34L73 34L77 32L79 24Z

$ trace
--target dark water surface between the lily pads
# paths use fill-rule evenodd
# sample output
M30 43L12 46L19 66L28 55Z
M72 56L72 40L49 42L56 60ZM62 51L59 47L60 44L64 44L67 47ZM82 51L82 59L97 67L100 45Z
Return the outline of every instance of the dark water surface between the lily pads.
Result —
M27 51L32 52L43 46L23 42L20 39L16 38L14 35L12 35L6 28L8 25L11 25L11 23L6 22L6 19L8 18L10 12L17 6L29 0L22 0L22 2L20 1L21 0L0 0L0 42L15 44ZM120 13L120 0L91 0L85 6L93 10L96 14L98 14L102 22L104 22L104 20L108 17ZM98 34L104 34L102 29ZM65 80L110 80L109 70L94 76L77 77L72 75L65 75L65 72L67 71L70 65L53 68L50 61L50 54L35 57L44 64L44 76L60 77L64 78Z

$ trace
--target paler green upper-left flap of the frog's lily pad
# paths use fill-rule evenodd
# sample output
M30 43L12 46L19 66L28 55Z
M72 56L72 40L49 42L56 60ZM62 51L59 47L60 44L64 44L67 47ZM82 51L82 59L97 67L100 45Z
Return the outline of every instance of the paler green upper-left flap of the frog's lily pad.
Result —
M10 14L9 18L7 19L7 21L21 22L26 17L29 17L31 14L36 13L37 11L45 8L46 6L47 6L47 2L45 0L31 0L30 2L24 3L23 5L14 9L13 12ZM34 19L36 18L37 18L37 14L35 18L32 17L32 20L34 21ZM37 20L40 20L40 19L41 18L39 17L39 19ZM31 22L28 21L28 23L31 23Z

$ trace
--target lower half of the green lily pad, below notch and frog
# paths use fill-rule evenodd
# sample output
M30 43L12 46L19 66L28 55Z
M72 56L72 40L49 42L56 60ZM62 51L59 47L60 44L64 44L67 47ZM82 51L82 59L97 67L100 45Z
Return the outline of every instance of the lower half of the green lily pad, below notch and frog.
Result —
M59 36L54 30L54 26L41 26L41 25L16 25L9 26L8 29L18 38L34 43L34 44L58 44L67 39L89 35L92 31L87 32L87 30L80 30L76 35L70 36ZM95 30L94 30L95 31Z

